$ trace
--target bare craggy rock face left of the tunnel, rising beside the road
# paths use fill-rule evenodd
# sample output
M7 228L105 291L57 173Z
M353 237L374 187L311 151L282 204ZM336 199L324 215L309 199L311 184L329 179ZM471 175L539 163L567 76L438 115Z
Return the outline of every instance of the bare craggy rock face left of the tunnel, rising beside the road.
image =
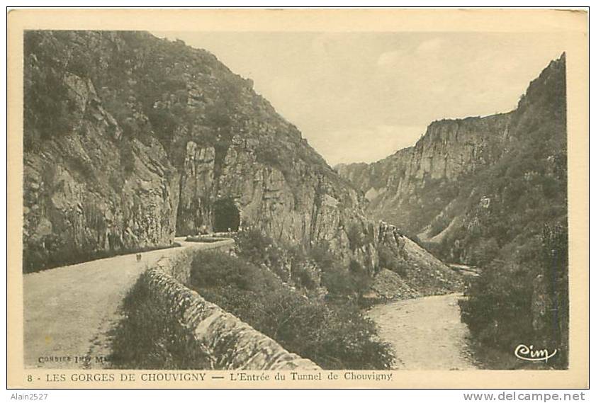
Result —
M24 268L172 243L178 179L161 145L128 140L130 154L123 155L122 130L91 81L71 74L63 79L67 130L77 135L61 132L52 141L26 144Z

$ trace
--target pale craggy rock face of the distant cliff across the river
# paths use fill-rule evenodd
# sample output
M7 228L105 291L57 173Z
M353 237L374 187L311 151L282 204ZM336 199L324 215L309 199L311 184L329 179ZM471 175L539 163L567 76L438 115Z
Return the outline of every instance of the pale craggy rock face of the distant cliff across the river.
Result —
M417 234L424 226L412 223L410 205L424 203L417 198L427 186L457 181L499 160L511 147L510 120L511 113L439 120L429 125L415 147L372 164L342 164L336 170L364 191L374 217ZM431 218L443 207L429 212Z

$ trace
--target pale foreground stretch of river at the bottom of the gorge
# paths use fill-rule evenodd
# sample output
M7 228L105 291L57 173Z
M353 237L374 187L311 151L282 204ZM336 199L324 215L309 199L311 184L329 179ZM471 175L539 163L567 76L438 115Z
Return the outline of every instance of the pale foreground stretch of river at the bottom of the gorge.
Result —
M459 318L460 297L422 297L369 310L379 336L393 346L395 369L476 369L466 346L468 328Z

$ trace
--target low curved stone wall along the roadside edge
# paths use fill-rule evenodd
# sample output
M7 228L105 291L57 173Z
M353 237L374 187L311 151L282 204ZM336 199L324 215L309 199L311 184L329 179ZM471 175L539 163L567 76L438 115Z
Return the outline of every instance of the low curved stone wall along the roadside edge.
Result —
M233 241L232 241L233 246ZM223 245L210 249L223 249ZM227 250L230 245L227 245ZM163 258L142 276L152 299L167 307L187 346L207 357L213 370L317 370L313 361L283 349L276 341L187 288L191 263L201 251L192 248Z

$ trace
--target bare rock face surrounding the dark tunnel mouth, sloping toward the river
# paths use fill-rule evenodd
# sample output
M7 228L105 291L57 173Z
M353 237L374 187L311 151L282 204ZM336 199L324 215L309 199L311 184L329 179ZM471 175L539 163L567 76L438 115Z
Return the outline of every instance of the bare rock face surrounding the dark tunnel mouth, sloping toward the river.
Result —
M215 172L215 150L189 142L181 176L179 234L213 228L217 200L233 200L240 227L257 227L276 241L309 245L326 242L346 263L356 259L376 266L374 230L361 212L359 196L337 179L313 172L303 161L284 171L259 161L259 140L252 147L232 139L223 169ZM291 176L290 181L286 176ZM350 244L347 232L356 226L361 239Z

